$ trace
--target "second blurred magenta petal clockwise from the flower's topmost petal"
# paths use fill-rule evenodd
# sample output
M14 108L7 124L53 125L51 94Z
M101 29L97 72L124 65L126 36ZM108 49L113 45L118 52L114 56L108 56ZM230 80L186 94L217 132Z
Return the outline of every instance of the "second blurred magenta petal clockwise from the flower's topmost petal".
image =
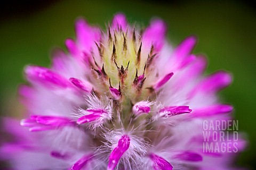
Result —
M192 52L195 45L196 45L196 37L195 36L187 37L175 49L174 56L177 57L178 60L182 60Z

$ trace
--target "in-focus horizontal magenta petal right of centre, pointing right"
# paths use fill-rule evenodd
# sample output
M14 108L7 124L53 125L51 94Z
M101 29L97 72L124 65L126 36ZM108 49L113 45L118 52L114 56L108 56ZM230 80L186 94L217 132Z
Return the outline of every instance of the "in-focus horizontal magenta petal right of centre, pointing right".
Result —
M159 114L164 117L170 117L174 115L179 115L183 113L191 113L192 110L189 109L189 106L168 106L159 110Z

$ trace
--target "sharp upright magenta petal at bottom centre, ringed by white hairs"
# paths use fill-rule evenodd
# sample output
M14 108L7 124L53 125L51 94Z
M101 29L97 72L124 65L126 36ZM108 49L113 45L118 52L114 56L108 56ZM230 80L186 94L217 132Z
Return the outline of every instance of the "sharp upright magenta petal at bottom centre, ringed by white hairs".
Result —
M109 156L108 170L114 170L122 157L124 152L130 147L130 138L128 135L123 135L119 141L117 147L111 152Z

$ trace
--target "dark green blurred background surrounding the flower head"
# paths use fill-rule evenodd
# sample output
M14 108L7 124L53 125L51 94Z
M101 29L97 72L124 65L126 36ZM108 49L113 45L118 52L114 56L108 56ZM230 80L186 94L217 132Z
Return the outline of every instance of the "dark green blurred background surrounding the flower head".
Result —
M246 132L249 147L237 164L256 167L256 12L244 1L2 1L0 16L0 111L19 115L17 87L25 82L27 64L50 65L54 47L74 37L74 21L84 16L105 28L117 12L130 23L146 26L158 16L169 25L168 37L176 46L190 34L198 36L194 53L209 59L207 73L224 69L233 74L233 84L221 92L222 100L234 105L239 130Z

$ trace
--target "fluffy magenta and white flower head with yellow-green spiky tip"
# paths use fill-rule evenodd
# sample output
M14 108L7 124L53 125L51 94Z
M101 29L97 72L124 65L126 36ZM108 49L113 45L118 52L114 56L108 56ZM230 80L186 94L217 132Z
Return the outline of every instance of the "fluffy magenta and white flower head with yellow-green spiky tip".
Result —
M22 170L231 169L234 154L202 151L203 121L231 118L217 95L231 77L203 76L205 57L191 54L196 37L173 48L162 20L140 35L123 14L107 31L83 19L75 30L50 68L26 67L27 113L21 126L4 120L15 140L1 159Z

